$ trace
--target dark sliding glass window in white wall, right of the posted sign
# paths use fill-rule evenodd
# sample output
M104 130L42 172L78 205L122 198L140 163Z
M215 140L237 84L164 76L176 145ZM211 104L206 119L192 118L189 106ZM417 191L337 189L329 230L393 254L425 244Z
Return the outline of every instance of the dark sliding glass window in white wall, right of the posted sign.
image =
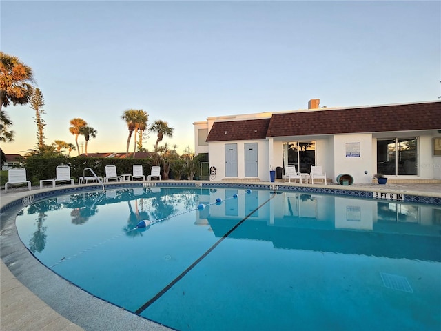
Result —
M377 140L377 172L389 176L416 175L418 143L413 138Z

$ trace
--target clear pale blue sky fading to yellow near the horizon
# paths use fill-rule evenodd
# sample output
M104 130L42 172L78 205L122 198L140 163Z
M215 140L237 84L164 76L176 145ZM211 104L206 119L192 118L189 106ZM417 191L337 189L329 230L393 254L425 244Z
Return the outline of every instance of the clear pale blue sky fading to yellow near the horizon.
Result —
M75 144L81 117L89 153L125 152L130 108L167 121L181 154L207 117L441 97L441 1L1 0L0 49L34 71L45 143ZM37 148L34 110L3 110L3 152Z

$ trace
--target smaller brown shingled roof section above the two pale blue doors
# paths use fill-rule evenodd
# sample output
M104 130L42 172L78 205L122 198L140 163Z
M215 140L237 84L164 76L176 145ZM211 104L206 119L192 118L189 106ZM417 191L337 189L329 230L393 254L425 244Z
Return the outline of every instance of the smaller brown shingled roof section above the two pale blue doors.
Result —
M207 141L266 139L270 119L214 122Z

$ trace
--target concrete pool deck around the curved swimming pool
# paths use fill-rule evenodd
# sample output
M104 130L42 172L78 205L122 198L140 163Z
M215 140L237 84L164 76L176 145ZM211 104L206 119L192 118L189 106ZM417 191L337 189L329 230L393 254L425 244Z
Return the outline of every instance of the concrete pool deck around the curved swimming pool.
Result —
M216 185L215 182L213 184ZM327 185L328 188L331 186L335 188L339 185ZM381 187L367 183L351 185L351 189L441 197L441 183L391 183ZM39 187L32 187L32 190L39 190ZM28 194L25 188L12 188L8 193L1 190L0 208ZM2 226L2 240L4 232L11 232L12 225L14 228L14 224ZM7 242L2 244L0 262L0 330L171 330L76 288L34 259L17 234L6 234L5 237ZM25 263L16 266L14 259L24 260ZM54 300L54 297L57 299Z

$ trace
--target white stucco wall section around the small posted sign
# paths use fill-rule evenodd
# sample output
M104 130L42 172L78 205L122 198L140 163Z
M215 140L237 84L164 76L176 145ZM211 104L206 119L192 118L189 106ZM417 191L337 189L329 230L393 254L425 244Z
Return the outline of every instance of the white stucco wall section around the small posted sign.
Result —
M350 147L347 143L359 144L360 157L347 157L347 148ZM370 183L373 174L372 134L337 134L334 136L334 155L334 172L327 173L334 182L339 174L350 174L353 183Z

